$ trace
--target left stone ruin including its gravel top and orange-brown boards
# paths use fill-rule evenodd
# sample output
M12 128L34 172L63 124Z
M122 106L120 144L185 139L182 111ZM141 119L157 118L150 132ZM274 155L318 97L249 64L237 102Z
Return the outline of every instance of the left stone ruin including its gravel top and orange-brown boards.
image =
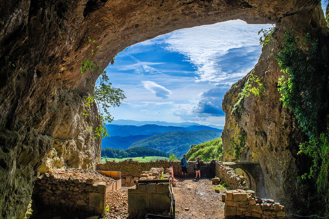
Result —
M46 214L56 214L56 211L84 217L104 214L106 192L120 189L120 178L110 178L93 170L76 170L87 174L73 171L67 176L63 171L62 174L45 173L37 178L32 194L32 207L37 214L43 209L49 209ZM114 176L115 173L108 174Z

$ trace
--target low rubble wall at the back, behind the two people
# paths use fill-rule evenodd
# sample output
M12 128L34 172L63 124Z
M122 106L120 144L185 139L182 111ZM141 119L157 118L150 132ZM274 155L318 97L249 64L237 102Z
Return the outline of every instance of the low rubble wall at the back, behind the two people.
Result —
M195 174L193 165L195 161L188 161L187 174L192 176ZM174 177L182 175L182 166L180 161L169 161L169 160L157 160L150 162L138 162L133 160L124 160L120 162L106 161L106 163L97 164L97 170L105 171L120 171L122 178L122 186L133 186L134 180L138 180L143 171L149 171L152 167L157 168L169 168L173 167ZM201 176L207 172L209 162L201 162Z

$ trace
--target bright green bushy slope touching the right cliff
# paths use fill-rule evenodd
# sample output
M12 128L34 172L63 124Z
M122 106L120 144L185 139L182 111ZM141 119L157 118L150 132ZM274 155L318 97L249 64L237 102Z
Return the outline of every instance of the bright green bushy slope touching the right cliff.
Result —
M214 140L193 146L186 154L188 160L196 160L199 156L200 160L209 162L212 159L218 159L223 152L222 139L216 138Z

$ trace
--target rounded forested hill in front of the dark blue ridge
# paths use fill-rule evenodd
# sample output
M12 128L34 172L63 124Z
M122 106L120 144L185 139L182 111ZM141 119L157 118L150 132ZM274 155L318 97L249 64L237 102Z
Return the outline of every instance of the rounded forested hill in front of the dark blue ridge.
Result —
M196 132L176 131L153 135L133 143L129 148L154 148L181 157L191 145L200 144L218 138L221 131L201 130Z

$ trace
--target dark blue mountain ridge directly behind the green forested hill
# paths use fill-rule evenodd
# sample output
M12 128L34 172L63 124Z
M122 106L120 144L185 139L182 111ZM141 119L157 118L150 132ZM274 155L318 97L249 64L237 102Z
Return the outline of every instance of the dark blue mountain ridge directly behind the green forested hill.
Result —
M220 129L212 128L209 126L194 124L183 124L182 126L159 126L152 124L132 126L107 124L106 129L111 137L105 137L102 139L102 148L112 147L118 149L126 149L136 141L161 133L173 131L195 132L200 130L222 131Z

